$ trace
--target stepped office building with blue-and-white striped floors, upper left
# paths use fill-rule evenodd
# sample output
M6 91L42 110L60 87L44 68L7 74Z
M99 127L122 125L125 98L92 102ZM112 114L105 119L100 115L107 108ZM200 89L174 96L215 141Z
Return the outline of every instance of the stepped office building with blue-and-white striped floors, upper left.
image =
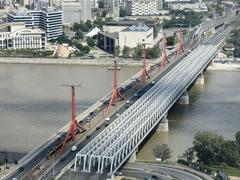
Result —
M8 13L7 22L24 22L26 27L41 28L47 40L63 34L62 11L49 7L43 10L24 10Z

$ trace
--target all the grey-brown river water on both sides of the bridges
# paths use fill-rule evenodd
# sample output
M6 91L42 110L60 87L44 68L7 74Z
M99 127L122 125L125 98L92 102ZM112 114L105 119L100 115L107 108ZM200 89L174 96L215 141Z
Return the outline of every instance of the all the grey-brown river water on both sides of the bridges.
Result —
M118 79L123 82L137 71L124 67ZM87 85L76 89L79 114L111 91L112 73L96 66L0 64L0 150L28 152L70 120L70 88L62 84ZM190 104L169 112L169 132L154 133L137 158L154 160L152 145L166 142L175 160L202 130L234 138L240 130L239 82L240 72L206 72L205 85L189 92Z

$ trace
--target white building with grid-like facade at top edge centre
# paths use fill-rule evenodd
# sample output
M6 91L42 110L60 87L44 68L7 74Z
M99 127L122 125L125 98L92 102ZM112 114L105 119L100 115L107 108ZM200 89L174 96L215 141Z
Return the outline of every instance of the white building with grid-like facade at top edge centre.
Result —
M126 10L129 16L156 15L158 2L156 0L127 0Z

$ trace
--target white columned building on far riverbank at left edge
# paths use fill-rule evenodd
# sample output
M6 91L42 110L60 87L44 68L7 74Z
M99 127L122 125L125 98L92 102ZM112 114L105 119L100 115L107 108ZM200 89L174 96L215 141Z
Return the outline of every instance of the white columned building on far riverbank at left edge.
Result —
M24 23L6 23L0 26L0 49L44 49L45 32L26 28Z

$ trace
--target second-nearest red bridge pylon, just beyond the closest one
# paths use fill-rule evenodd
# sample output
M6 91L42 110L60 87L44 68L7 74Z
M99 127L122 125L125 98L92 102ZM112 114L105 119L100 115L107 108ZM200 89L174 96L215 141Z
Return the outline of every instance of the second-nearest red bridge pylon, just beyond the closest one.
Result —
M118 87L117 87L117 61L114 60L114 78L113 78L113 93L112 93L112 97L109 101L108 107L106 109L106 113L111 109L111 106L117 105L117 98L120 97L121 100L123 99L123 96L119 93L118 91Z

